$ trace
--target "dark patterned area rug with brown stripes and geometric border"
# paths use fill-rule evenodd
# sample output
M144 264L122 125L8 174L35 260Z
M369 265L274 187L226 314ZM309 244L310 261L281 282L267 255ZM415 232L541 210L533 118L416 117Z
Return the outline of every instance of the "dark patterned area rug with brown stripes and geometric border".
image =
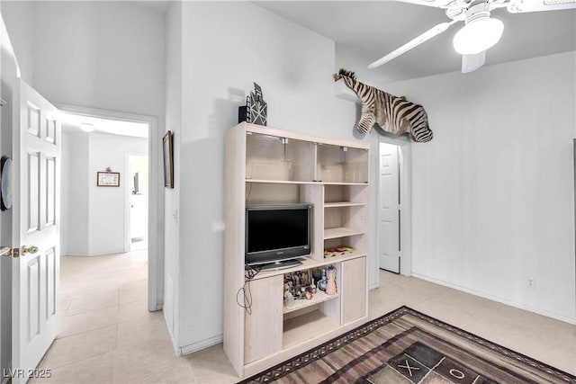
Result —
M576 383L576 377L402 307L242 383Z

